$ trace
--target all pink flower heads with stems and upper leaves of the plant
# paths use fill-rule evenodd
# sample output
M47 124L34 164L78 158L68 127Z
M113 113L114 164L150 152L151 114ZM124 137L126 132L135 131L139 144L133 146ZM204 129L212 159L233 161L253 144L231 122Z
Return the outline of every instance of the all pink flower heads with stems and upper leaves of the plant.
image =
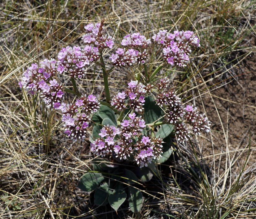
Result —
M154 160L164 161L161 157L166 137L171 135L178 142L184 143L188 141L191 132L200 134L210 131L207 117L193 105L183 106L175 90L168 88L167 77L152 83L155 75L165 65L186 66L192 53L191 48L200 47L200 40L192 31L167 33L167 30L163 30L152 36L152 41L139 33L128 34L121 42L122 48L117 48L109 57L112 67L108 70L102 52L113 48L115 39L105 34L104 20L95 25L86 25L82 40L84 48L62 48L57 60L51 58L41 61L39 65L32 64L19 82L20 87L26 88L29 93L38 92L47 108L62 112L64 133L70 139L84 141L91 121L98 122L93 123L91 151L101 157L112 155L117 161L133 161L143 168ZM154 44L160 45L163 50L163 63L150 73L146 64L148 48ZM99 101L93 94L81 95L76 86L76 79L84 79L85 68L93 63L102 68L105 101ZM108 74L115 68L134 65L143 65L144 82L136 78L111 98ZM72 90L58 81L57 76L61 74L70 76ZM65 93L77 95L75 103L65 103ZM103 180L101 177L94 175L98 184ZM84 188L91 179L85 175L80 181L80 187ZM90 189L84 188L86 191Z

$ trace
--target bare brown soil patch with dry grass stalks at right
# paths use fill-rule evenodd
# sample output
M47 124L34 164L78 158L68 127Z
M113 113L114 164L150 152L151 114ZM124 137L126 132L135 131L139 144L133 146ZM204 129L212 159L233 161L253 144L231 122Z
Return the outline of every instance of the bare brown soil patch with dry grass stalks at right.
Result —
M230 153L231 160L236 160L236 167L244 165L248 154L249 139L250 158L249 164L256 161L256 58L248 57L242 63L240 69L236 69L236 75L224 82L217 84L219 79L213 82L217 84L202 95L199 108L205 108L206 114L211 121L211 136L199 138L199 146L204 152L202 156L212 163L215 156L216 171L221 173L225 168L225 155ZM207 84L209 87L209 84ZM205 89L206 86L202 86ZM207 92L210 91L210 92ZM200 99L199 99L200 100ZM207 146L208 147L207 147Z

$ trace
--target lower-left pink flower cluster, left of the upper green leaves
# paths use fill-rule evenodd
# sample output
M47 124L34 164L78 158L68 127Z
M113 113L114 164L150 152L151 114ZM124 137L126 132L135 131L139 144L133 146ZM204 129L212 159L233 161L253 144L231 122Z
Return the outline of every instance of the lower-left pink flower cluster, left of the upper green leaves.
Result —
M65 123L65 131L73 141L84 141L86 128L89 126L90 114L96 113L100 103L92 94L81 96L73 104L62 104L59 109L63 112L61 120Z

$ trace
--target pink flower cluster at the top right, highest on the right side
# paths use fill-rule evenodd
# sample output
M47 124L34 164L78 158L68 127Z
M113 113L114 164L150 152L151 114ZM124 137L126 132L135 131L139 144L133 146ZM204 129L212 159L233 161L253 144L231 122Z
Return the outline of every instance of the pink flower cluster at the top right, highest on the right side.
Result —
M192 52L191 46L200 47L200 40L193 31L174 31L172 34L163 30L155 34L152 39L163 46L164 60L177 67L186 66Z

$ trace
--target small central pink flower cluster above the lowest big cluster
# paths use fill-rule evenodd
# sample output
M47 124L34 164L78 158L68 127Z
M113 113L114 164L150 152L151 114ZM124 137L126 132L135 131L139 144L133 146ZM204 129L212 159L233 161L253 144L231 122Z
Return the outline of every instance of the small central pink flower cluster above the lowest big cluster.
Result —
M111 106L115 106L118 111L123 111L129 106L134 112L142 114L144 112L145 95L150 93L151 89L152 86L149 84L145 86L141 82L131 81L125 91L119 92L112 98ZM128 102L126 98L128 98Z

